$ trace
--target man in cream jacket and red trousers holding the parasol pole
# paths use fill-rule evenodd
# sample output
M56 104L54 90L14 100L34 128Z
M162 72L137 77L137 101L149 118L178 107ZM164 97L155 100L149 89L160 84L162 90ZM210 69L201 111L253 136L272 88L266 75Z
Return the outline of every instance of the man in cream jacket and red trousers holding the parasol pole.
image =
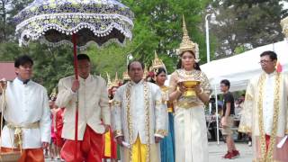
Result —
M66 107L62 138L66 139L61 150L65 161L101 162L103 155L103 133L109 130L110 108L107 85L100 76L90 74L90 58L79 54L79 79L67 76L59 80L58 107ZM75 153L76 93L78 93L78 146Z

